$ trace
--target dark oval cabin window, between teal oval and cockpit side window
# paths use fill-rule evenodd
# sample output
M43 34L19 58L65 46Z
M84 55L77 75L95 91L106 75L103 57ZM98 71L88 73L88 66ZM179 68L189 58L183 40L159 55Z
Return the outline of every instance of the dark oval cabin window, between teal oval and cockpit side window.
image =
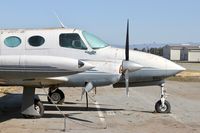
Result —
M33 47L38 47L44 44L45 39L42 36L32 36L28 39L28 43Z

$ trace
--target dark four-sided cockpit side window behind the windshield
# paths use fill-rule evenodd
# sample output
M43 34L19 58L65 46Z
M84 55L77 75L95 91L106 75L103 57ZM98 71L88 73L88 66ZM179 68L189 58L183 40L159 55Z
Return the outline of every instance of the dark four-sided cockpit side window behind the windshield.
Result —
M87 49L84 42L81 40L80 36L74 33L60 34L59 43L61 47L65 48L84 49L84 50Z

